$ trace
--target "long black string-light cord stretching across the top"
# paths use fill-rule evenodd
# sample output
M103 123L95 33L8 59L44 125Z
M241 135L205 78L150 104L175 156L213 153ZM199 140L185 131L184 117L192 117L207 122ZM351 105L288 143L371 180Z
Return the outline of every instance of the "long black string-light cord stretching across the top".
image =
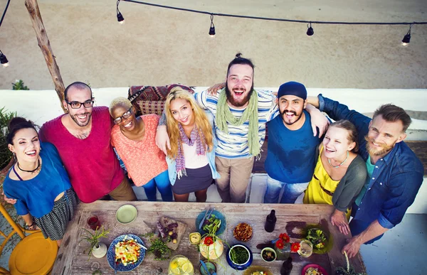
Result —
M260 17L260 16L242 16L242 15L236 15L236 14L215 14L215 13L211 13L209 11L199 11L199 10L195 10L195 9L184 9L184 8L179 8L179 7L176 7L176 6L165 6L165 5L159 5L159 4L148 3L148 2L137 1L137 0L122 0L122 1L130 2L130 3L136 3L136 4L142 4L142 5L147 5L147 6L156 6L158 8L164 8L164 9L174 9L176 11L189 11L189 12L196 13L196 14L209 14L211 16L215 15L215 16L225 16L225 17L234 17L234 18L257 19L257 20L264 20L264 21L282 21L282 22L290 22L290 23L306 23L306 24L310 24L310 27L307 26L308 27L308 29L307 29L307 36L312 36L315 33L314 30L311 27L312 23L314 23L314 24L326 24L326 25L376 25L376 26L427 25L426 21L421 21L421 22L307 21L307 20L287 19L287 18L270 18L270 17ZM118 8L117 8L117 11L118 11ZM211 33L211 29L209 29L209 34L210 33ZM310 35L310 33L311 33L311 35ZM410 38L411 37L411 33L408 32L408 35L409 35L409 38ZM408 44L408 43L406 43L406 44Z

